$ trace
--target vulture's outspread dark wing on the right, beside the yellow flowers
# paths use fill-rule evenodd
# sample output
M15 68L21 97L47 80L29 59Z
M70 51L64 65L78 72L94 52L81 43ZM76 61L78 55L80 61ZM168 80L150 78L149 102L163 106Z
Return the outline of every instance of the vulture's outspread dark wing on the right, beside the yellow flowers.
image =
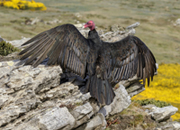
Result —
M149 48L137 37L128 36L115 43L104 43L96 73L111 83L134 75L148 85L156 72L156 60Z

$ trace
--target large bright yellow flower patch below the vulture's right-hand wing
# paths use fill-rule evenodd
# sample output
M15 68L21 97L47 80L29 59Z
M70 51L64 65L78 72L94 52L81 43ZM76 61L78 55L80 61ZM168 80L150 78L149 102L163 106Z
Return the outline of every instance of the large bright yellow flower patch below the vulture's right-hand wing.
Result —
M158 75L146 90L134 96L133 100L155 99L168 102L179 111L172 116L180 120L180 64L161 64Z

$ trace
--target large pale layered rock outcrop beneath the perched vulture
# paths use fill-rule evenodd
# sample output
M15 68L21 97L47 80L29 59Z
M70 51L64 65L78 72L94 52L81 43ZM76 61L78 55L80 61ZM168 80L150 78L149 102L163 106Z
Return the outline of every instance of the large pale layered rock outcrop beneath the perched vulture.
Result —
M71 83L60 85L59 66L16 66L18 61L0 62L0 129L74 129L89 122L87 129L106 126L106 116L121 112L130 103L125 87L115 90L109 106L100 106L89 93L82 94ZM109 110L108 110L109 109ZM92 123L96 122L96 124ZM94 124L94 125L93 125Z

